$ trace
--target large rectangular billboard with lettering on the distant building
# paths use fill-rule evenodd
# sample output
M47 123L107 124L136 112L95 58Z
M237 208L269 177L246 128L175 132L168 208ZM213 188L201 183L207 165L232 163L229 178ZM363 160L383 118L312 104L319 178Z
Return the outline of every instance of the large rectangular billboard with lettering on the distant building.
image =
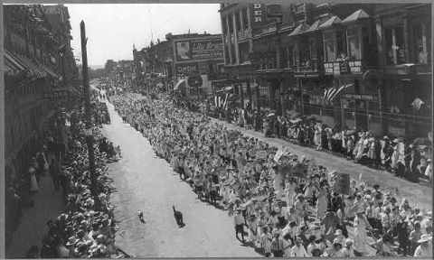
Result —
M223 59L222 39L197 39L175 42L176 60Z

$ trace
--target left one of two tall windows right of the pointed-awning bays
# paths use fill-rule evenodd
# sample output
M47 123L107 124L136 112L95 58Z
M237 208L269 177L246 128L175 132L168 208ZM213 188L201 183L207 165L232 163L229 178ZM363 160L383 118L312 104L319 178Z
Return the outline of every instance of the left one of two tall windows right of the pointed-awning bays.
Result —
M395 25L385 28L384 36L386 43L386 63L388 65L405 63L403 26Z

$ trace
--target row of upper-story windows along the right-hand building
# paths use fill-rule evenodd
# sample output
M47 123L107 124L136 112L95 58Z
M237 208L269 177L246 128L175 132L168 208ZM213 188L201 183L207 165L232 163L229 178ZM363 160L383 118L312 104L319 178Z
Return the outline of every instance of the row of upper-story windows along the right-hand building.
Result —
M306 67L317 70L318 60L325 62L342 60L363 60L365 65L377 63L377 35L371 23L355 24L345 29L328 30L322 33L311 33L299 36L294 43L281 47L280 68ZM408 39L405 39L403 24L392 24L382 28L383 55L386 65L403 63L427 64L430 52L429 23L415 21L410 23ZM231 50L232 63L235 62L235 48L229 42L226 45ZM248 59L249 50L240 43L240 61ZM258 43L262 44L262 43ZM405 46L408 44L409 46ZM230 48L231 47L231 48ZM406 51L408 50L408 51ZM273 53L269 53L273 54ZM278 64L276 57L267 55L259 59L260 69L275 69ZM229 63L230 53L226 52L226 63Z

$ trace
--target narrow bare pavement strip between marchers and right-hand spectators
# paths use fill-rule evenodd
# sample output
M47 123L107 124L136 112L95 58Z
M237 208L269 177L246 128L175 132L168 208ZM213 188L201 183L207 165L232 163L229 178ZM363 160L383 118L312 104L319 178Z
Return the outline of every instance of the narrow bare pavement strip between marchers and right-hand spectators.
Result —
M212 117L210 117L212 118ZM385 172L382 170L371 169L359 163L354 163L353 161L346 160L343 157L336 156L332 153L325 153L316 151L313 148L305 147L297 144L289 143L285 140L278 138L265 137L262 133L256 132L254 130L246 130L237 125L231 125L227 122L212 118L213 122L219 122L229 129L236 129L241 131L244 135L258 138L261 141L267 142L269 145L276 147L286 146L291 153L295 153L298 156L306 156L307 159L315 161L317 164L324 165L329 171L336 172L346 172L349 173L352 179L357 180L359 174L363 173L362 181L373 185L379 184L380 187L393 190L396 193L396 197L401 203L402 198L407 198L410 205L415 205L420 209L432 210L432 188L420 185L418 183L413 183L406 181L404 179L395 177L390 172Z

